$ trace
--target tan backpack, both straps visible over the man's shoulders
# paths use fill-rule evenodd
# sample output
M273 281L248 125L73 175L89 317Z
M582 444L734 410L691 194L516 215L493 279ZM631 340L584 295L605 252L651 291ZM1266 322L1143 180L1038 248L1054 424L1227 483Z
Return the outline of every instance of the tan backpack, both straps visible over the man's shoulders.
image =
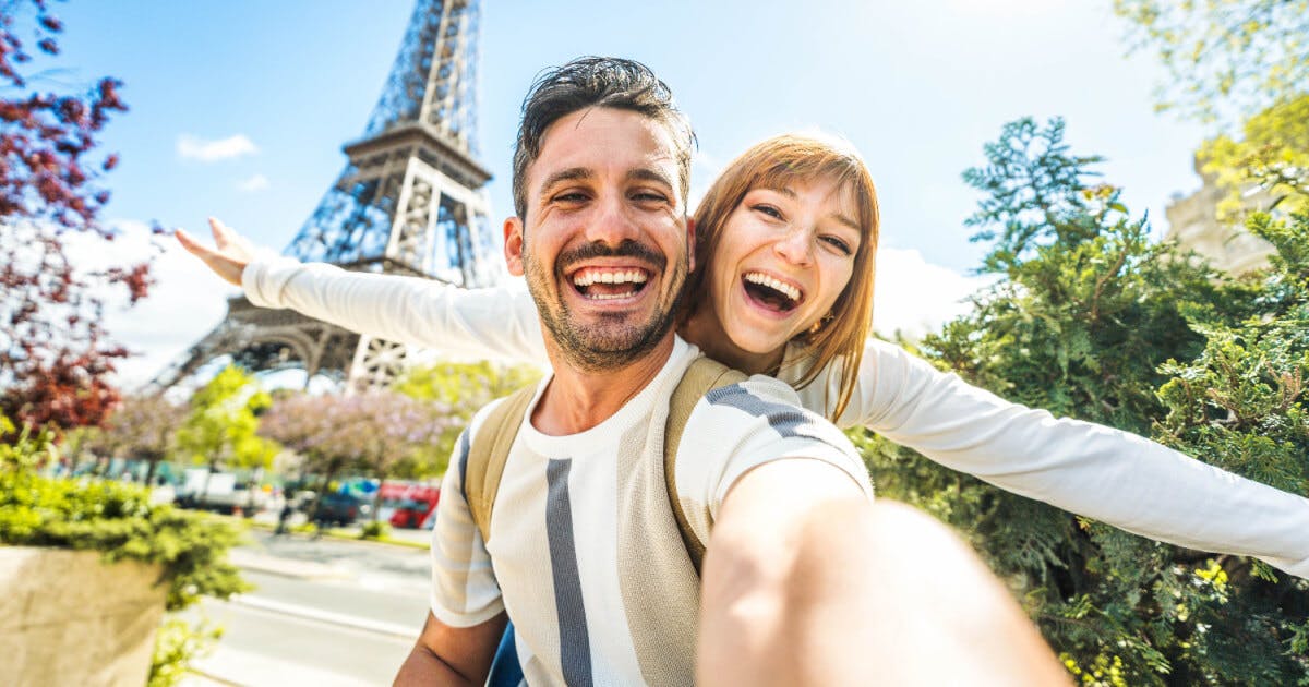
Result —
M682 431L691 417L691 410L704 394L713 389L737 383L745 379L745 373L733 370L726 365L700 356L686 369L682 381L678 382L668 406L668 425L664 431L664 484L668 488L668 500L673 506L673 517L677 518L677 529L682 533L682 543L686 546L695 573L700 573L700 563L704 559L704 542L691 531L682 510L682 502L677 497L677 445L682 440ZM491 510L495 508L496 492L500 491L500 476L504 474L504 465L509 459L509 448L518 434L522 416L528 412L528 404L535 395L535 386L528 386L514 391L487 416L480 431L473 440L469 449L467 470L463 475L463 492L473 512L473 522L482 533L482 540L491 540Z

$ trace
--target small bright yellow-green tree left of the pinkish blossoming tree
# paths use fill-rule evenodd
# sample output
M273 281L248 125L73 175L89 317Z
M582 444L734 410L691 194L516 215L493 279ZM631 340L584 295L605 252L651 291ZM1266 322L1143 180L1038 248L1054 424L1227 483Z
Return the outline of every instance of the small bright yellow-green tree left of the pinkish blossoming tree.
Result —
M267 468L278 445L260 437L258 415L272 399L254 377L229 365L200 387L190 400L190 414L177 431L177 451L192 465L219 468ZM202 489L203 499L208 491Z

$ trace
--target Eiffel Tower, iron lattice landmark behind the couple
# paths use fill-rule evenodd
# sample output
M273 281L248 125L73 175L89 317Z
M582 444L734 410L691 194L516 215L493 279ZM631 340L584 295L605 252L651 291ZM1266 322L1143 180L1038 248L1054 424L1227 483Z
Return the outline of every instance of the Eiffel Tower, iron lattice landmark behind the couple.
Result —
M418 0L364 137L318 208L283 251L347 270L424 276L462 287L504 273L475 160L478 0ZM389 383L406 345L292 310L228 301L226 318L147 386L162 393L229 355L254 372L302 368L348 390Z

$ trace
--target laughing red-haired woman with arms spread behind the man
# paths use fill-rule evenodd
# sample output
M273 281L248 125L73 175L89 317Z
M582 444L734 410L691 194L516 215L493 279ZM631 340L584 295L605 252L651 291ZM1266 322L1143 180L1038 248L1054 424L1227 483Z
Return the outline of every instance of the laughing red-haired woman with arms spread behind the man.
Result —
M728 166L695 220L698 268L679 334L708 355L789 382L805 407L840 427L867 427L1011 492L1309 577L1309 500L1135 434L1005 402L868 339L877 200L848 147L795 135L766 140ZM211 224L217 253L185 233L179 239L255 305L449 353L545 360L522 291L250 262L240 237Z

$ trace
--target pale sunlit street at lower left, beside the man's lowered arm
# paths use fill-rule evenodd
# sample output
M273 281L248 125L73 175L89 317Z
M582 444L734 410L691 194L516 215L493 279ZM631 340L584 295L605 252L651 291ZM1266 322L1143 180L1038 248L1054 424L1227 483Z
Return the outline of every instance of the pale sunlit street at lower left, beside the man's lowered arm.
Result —
M255 590L186 611L224 627L190 687L390 684L427 614L427 551L272 537L233 551Z

